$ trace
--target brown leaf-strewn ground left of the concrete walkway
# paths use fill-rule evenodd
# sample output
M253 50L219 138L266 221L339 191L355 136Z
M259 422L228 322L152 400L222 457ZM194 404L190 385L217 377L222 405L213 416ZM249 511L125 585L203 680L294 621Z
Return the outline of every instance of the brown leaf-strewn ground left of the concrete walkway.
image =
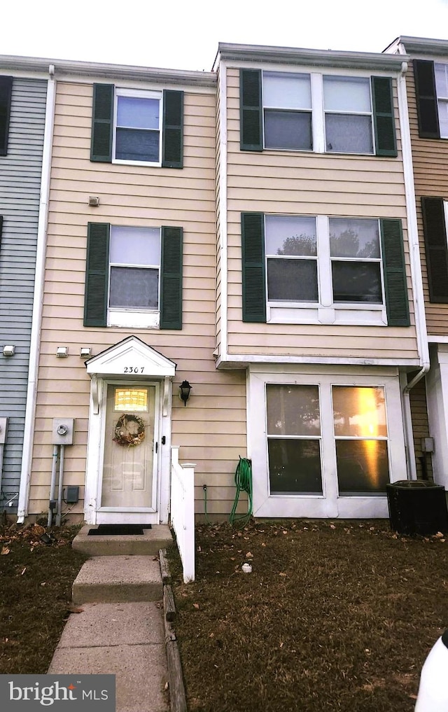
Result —
M0 674L46 673L86 558L71 548L78 529L0 527Z

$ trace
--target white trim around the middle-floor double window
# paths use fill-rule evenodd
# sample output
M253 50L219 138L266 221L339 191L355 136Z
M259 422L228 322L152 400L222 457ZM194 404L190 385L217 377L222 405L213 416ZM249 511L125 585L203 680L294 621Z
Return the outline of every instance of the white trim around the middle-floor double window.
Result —
M445 204L447 207L448 204ZM266 235L266 216L265 235ZM269 214L269 216L272 216ZM274 215L275 217L276 215ZM280 216L279 216L280 217ZM318 302L290 303L290 302L269 302L268 298L268 259L265 255L265 280L266 280L266 322L271 324L340 324L359 326L387 326L387 312L385 304L385 283L384 269L382 265L382 254L375 262L380 263L382 304L363 303L333 303L333 287L331 277L331 256L330 256L330 216L327 215L301 215L301 217L316 218L317 237L317 267L318 267ZM339 216L340 217L340 216ZM364 216L365 217L365 216ZM351 219L352 216L350 216ZM357 219L353 216L353 219ZM368 218L378 222L378 234L380 235L379 218ZM447 222L448 224L448 222ZM266 240L266 238L265 238ZM266 244L266 243L265 243ZM381 251L381 240L380 240ZM288 256L285 256L288 258ZM310 257L310 259L315 259Z

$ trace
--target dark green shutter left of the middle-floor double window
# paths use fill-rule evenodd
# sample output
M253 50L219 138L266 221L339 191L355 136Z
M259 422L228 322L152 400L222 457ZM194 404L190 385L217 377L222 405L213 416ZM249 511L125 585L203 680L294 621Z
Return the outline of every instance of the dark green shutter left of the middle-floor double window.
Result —
M243 321L266 323L264 214L241 213Z

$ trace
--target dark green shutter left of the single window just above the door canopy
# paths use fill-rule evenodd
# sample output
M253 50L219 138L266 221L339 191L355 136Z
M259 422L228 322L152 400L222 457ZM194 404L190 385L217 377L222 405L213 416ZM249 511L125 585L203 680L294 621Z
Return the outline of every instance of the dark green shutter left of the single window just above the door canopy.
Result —
M84 326L108 321L109 223L88 223Z

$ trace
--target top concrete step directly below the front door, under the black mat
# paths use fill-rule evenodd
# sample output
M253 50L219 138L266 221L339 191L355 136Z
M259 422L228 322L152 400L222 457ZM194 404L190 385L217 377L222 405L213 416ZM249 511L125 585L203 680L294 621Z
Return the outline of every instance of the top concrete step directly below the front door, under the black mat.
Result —
M98 527L85 524L73 539L73 549L88 556L157 556L160 549L172 545L172 535L167 524L153 524L143 534L89 535Z

